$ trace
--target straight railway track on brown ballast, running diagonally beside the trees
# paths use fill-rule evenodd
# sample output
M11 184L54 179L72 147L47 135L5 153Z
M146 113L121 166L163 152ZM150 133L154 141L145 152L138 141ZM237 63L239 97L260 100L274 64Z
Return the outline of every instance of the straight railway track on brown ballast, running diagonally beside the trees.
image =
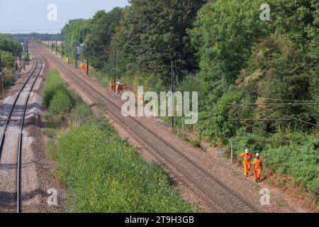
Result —
M160 156L181 175L184 175L189 181L186 182L186 184L189 184L189 187L193 186L200 190L201 194L199 194L199 196L201 196L202 199L208 199L208 201L206 201L207 204L211 204L216 210L222 212L262 212L261 209L228 187L211 172L201 167L201 165L191 157L188 157L181 150L178 150L174 145L168 143L160 135L152 131L152 128L143 125L133 117L123 117L121 115L121 106L114 104L111 99L94 89L91 84L88 84L84 79L74 73L72 67L62 62L62 60L58 60L45 50L38 47L36 50L39 51L43 57L50 60L50 62L74 82L74 84L77 84L82 92L95 100L97 104L106 109L114 118L118 119L119 122L124 123L125 126L136 135L135 138L142 140L152 148L154 155L157 157Z

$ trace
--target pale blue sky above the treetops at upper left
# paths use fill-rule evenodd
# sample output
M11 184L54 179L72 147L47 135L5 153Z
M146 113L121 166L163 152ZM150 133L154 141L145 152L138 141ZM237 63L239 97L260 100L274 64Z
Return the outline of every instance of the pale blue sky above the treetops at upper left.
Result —
M0 0L0 33L60 33L69 19L127 5L128 0Z

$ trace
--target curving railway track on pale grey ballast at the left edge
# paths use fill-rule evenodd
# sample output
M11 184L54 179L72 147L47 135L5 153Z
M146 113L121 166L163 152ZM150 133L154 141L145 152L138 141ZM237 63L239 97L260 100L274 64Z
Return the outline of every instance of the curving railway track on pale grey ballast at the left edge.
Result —
M43 67L40 55L33 55L33 57L35 59L35 67L29 72L28 77L23 81L18 92L13 94L13 103L1 106L1 109L3 109L1 117L4 117L4 119L1 119L0 138L1 174L5 174L6 171L8 171L9 176L7 176L7 179L10 179L10 182L4 182L4 178L2 178L0 190L2 191L2 189L6 187L6 192L10 191L11 193L8 193L6 198L0 197L0 209L4 208L5 211L13 211L13 206L16 206L17 213L21 212L21 151L23 143L23 123L26 117L30 94ZM16 128L18 128L18 130L16 130ZM3 157L4 153L6 157ZM2 169L2 167L6 166L13 167ZM13 169L16 169L15 173L13 173ZM13 185L13 181L16 181L15 185ZM16 188L16 192L13 196L14 193L12 193L12 189L14 187Z

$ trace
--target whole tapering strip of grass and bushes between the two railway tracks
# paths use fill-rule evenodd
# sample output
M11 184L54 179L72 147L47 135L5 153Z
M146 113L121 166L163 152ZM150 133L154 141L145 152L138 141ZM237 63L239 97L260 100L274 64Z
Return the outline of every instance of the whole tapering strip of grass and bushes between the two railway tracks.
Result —
M43 132L50 136L47 152L68 189L70 211L198 211L181 199L161 167L145 162L106 121L95 118L83 101L67 92L58 77L56 70L47 74L44 99L50 112ZM71 108L60 108L56 96L71 100Z

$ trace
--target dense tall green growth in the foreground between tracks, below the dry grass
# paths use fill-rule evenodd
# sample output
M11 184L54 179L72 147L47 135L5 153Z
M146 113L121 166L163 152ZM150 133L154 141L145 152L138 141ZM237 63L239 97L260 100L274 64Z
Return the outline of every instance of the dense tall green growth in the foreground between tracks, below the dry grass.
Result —
M57 170L74 212L190 212L158 166L148 164L106 123L79 126L57 140Z

